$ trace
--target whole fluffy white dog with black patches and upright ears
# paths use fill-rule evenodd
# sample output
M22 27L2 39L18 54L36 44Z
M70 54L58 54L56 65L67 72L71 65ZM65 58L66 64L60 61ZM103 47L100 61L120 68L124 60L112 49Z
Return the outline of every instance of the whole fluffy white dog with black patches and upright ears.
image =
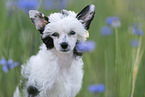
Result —
M42 35L43 44L37 55L22 65L21 87L14 97L75 97L83 78L82 52L78 41L85 41L95 14L88 5L76 14L62 10L46 17L37 10L29 16Z

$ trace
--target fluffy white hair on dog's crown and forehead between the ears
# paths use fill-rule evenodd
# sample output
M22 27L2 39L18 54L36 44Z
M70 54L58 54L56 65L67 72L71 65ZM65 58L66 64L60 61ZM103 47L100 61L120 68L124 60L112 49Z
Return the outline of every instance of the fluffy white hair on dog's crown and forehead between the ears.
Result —
M61 13L54 13L49 16L49 24L45 26L43 37L51 34L51 32L70 32L71 30L75 31L79 36L79 40L84 40L88 38L87 30L84 28L82 23L76 18L76 13L73 11L66 11L68 16L65 16ZM56 29L57 28L57 29Z

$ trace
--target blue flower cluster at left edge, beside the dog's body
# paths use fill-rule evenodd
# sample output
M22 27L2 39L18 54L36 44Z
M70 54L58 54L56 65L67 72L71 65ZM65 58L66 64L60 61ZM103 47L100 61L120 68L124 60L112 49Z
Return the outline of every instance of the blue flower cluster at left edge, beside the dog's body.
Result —
M13 69L14 67L19 65L18 62L13 62L12 59L9 59L7 62L4 58L0 60L0 64L3 66L2 69L5 73L7 73L9 69Z

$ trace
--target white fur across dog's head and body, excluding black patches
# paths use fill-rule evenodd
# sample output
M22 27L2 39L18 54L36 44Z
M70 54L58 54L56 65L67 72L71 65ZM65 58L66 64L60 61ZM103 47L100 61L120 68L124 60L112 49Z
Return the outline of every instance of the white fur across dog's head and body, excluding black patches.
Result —
M94 6L91 6L90 11L93 11ZM21 94L17 88L14 97L28 97L29 86L34 86L40 91L36 97L75 97L80 91L83 61L82 57L74 57L73 48L77 40L85 40L88 37L88 32L76 18L76 13L67 10L63 10L62 13L54 13L48 17L50 23L45 26L42 35L42 38L45 38L54 32L60 34L59 38L52 37L54 48L48 50L45 44L42 44L38 54L22 65L22 77L28 81L24 85L23 93ZM37 16L37 14L41 15L38 11L31 10L29 14L33 22L36 22L37 29L43 26L42 23L46 23L44 18L41 20ZM69 36L70 31L75 31L76 34ZM57 49L62 42L69 44L71 49L68 53Z

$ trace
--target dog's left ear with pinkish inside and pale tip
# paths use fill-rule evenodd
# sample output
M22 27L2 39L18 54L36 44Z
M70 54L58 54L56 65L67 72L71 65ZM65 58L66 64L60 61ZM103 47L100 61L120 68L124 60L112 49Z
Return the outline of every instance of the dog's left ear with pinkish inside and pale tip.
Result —
M30 10L29 17L31 18L33 24L36 26L36 29L40 31L41 34L44 31L44 27L49 23L48 17L40 13L37 10Z

